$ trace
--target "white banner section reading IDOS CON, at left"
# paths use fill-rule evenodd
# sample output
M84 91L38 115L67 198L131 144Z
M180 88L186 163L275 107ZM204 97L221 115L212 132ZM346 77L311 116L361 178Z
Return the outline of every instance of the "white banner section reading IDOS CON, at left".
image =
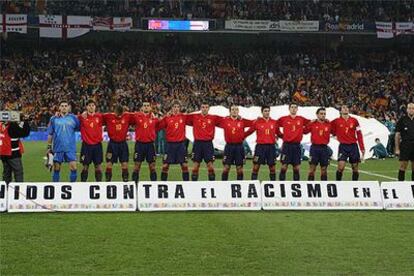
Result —
M133 182L10 183L9 212L135 211Z

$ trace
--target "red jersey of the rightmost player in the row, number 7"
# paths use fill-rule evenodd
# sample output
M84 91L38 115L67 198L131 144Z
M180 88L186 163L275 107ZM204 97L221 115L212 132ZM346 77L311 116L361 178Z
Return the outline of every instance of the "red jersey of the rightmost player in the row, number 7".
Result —
M364 139L357 119L336 118L332 121L332 132L341 144L355 144L358 141L361 151L365 150Z

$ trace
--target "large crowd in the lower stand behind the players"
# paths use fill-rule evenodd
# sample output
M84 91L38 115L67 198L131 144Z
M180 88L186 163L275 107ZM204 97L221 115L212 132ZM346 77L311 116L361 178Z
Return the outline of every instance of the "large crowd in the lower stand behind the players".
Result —
M129 46L130 47L130 46ZM138 110L150 99L165 111L178 99L187 111L211 105L351 106L392 130L414 100L414 58L397 52L289 49L185 49L167 46L10 52L1 60L0 109L29 114L44 127L65 98L78 113L88 98L101 111L116 103Z

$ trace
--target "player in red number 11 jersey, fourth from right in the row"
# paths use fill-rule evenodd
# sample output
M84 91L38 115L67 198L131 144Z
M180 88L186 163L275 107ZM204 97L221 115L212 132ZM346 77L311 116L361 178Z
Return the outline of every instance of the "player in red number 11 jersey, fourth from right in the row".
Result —
M276 180L276 140L279 126L270 118L270 106L262 106L262 118L258 118L247 130L245 137L256 131L256 148L253 156L252 180L257 179L260 165L269 166L269 178Z

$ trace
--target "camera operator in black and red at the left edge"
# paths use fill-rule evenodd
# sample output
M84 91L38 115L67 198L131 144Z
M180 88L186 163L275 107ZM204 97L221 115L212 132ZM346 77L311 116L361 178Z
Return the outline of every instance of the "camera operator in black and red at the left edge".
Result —
M23 182L23 144L19 138L27 137L29 134L30 126L27 120L0 121L0 158L3 162L3 180L6 184L12 182L12 173L15 182Z

